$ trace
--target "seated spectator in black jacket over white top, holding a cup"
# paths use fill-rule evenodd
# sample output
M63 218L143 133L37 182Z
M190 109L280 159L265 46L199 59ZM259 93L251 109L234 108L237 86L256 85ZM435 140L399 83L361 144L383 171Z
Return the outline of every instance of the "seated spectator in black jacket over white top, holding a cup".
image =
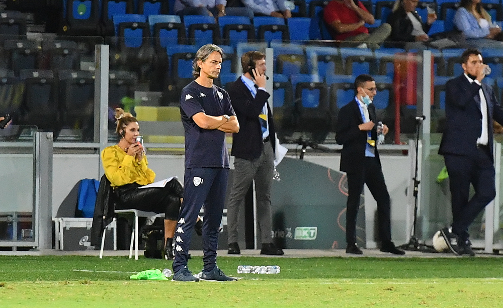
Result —
M421 16L415 11L418 2L419 0L396 0L387 20L391 25L390 41L411 42L405 44L405 48L421 48L424 47L424 42L430 40L428 31L437 20L437 14L428 15L428 20L423 23Z

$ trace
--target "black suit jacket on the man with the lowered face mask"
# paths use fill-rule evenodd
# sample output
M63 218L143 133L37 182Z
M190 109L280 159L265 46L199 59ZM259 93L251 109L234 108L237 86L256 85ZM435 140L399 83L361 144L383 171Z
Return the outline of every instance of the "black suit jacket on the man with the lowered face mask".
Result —
M374 104L368 106L371 121L376 122L376 108ZM348 173L361 172L364 167L365 148L367 146L367 132L360 131L358 125L363 124L362 114L358 102L353 99L341 108L336 125L336 141L343 145L341 153L341 171ZM372 140L377 139L376 127L371 131ZM377 144L377 143L376 143ZM379 160L379 152L375 148L375 157Z

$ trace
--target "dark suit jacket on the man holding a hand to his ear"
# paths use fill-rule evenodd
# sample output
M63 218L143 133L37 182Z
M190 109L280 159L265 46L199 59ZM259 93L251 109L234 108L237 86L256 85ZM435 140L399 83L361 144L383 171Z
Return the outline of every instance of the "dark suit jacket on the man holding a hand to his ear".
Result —
M259 115L271 95L264 90L257 90L254 98L241 77L229 83L225 89L229 93L232 108L239 122L239 133L232 134L231 155L247 160L257 159L264 147ZM269 104L267 104L267 115L270 142L273 150L276 150L274 120Z

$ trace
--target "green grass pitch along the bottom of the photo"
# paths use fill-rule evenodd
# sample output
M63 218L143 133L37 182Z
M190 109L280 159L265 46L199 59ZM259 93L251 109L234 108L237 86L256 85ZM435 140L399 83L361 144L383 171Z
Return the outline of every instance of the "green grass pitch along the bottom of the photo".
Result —
M501 258L218 257L236 282L129 280L171 262L0 256L0 307L500 307ZM279 274L236 274L279 265ZM201 257L189 268L201 270Z

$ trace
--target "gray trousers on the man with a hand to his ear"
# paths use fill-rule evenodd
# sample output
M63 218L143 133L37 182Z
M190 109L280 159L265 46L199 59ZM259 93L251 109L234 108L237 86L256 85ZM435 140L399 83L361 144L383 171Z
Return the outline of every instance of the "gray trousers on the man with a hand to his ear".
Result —
M274 152L271 142L264 144L262 154L256 160L241 158L234 160L234 179L227 204L228 243L237 242L239 218L251 181L255 181L257 221L261 242L262 244L272 243L271 182L273 172Z

